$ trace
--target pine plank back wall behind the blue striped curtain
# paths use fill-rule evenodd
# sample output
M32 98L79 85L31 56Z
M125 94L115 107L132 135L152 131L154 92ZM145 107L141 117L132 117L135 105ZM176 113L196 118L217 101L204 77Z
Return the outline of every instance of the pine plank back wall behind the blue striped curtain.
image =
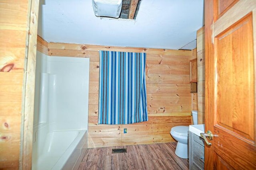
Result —
M191 124L189 60L191 51L45 43L49 56L90 58L88 147L108 147L174 141L170 129ZM44 50L43 50L44 49ZM98 50L146 52L149 121L131 125L98 125ZM124 134L124 128L127 133Z

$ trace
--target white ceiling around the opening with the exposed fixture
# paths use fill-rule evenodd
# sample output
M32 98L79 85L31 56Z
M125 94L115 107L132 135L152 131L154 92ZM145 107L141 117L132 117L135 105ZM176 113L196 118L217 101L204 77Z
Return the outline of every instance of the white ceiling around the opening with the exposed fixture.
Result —
M96 17L92 0L44 0L38 35L59 43L194 49L203 6L204 0L141 0L136 20L121 20Z

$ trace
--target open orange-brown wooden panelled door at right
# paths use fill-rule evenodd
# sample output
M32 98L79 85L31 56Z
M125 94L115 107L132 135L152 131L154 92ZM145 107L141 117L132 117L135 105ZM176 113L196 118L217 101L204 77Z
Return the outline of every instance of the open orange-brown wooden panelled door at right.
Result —
M256 0L205 0L205 169L256 169Z

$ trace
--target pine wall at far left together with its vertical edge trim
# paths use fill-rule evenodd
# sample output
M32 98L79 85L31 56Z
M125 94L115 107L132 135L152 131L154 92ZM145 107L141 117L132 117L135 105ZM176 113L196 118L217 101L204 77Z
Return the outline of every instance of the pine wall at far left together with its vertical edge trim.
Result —
M38 6L0 2L0 169L31 169Z

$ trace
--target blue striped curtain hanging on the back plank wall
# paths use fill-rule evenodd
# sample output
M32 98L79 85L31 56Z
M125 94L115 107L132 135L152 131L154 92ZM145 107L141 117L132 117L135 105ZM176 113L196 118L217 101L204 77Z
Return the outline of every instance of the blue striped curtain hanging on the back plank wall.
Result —
M99 124L148 121L146 53L100 51Z

